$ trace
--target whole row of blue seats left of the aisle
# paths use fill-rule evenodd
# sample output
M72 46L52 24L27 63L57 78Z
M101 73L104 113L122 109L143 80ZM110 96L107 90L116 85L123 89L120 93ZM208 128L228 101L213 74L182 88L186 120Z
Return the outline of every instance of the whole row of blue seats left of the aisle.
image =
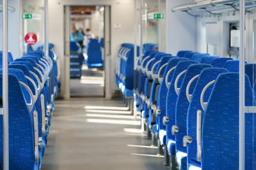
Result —
M40 169L58 93L54 53L50 51L45 56L42 51L33 51L13 60L9 52L8 59L9 169ZM1 69L1 97L2 83ZM3 124L0 134L0 166L3 167Z

